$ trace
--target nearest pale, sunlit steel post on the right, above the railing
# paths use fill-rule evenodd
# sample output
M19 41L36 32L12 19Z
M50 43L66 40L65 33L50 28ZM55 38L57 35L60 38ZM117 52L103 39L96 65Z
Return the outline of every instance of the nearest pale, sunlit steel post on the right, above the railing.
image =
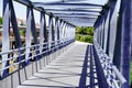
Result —
M107 54L113 59L113 51L117 34L117 21L118 21L117 0L110 0L110 19L109 19L109 34L107 42Z

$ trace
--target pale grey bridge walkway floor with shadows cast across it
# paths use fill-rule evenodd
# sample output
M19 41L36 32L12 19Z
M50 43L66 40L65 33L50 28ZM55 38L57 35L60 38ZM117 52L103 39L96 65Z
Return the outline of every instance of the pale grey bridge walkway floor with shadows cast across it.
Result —
M92 45L75 43L18 88L98 88Z

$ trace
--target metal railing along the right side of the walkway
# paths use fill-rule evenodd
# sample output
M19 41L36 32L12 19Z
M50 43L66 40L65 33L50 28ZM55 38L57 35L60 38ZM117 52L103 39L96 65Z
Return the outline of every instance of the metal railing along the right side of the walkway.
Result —
M112 59L103 52L101 46L95 41L95 48L101 64L107 84L109 88L128 88L127 80L119 72L119 69L112 64Z

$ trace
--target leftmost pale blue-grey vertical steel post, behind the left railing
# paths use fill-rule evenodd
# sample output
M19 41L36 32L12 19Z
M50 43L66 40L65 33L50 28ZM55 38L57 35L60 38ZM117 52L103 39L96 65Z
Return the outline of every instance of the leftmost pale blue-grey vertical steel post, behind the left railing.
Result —
M10 0L3 0L3 31L2 31L2 52L7 52L10 50L10 38L9 38L9 30L10 30L10 7L9 7L9 1ZM2 69L4 67L9 66L9 61L8 61L8 54L2 55L2 61L7 61L2 63ZM4 69L1 73L1 77L4 77L6 75L9 74L9 69Z

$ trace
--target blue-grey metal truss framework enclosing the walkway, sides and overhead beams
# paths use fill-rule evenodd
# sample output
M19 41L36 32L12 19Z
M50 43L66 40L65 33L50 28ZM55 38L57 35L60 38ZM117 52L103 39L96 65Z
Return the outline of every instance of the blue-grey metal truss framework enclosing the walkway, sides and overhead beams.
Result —
M26 8L25 46L22 45L13 1ZM35 0L3 0L0 81L2 82L10 75L33 64L32 62L37 63L54 53L61 55L64 52L63 48L69 47L75 42L76 26L94 26L94 56L99 88L129 88L131 3L131 0L121 0L121 3L120 0L100 0L100 2L91 0L38 2ZM40 37L33 10L40 13ZM46 15L48 16L48 28ZM15 48L10 47L11 26ZM12 61L13 63L11 63ZM46 59L46 64L50 62L52 59ZM10 72L12 67L15 69ZM38 69L41 67L36 67L34 73ZM2 87L4 88L3 85Z

